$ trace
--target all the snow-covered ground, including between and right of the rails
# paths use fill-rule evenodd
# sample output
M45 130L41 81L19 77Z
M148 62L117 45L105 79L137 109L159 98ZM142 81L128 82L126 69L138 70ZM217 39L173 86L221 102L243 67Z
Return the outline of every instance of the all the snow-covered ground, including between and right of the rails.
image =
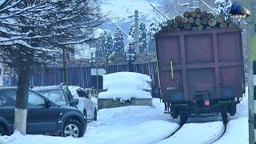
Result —
M83 138L60 138L44 135L26 135L15 133L10 137L0 137L1 144L86 144L86 143L211 143L222 134L222 122L196 122L190 120L177 133L166 140L168 135L178 129L177 120L170 120L169 114L163 114L164 106L158 98L154 106L125 106L98 111L98 121L88 123ZM247 98L238 104L238 112L230 117L226 133L215 142L248 143ZM214 122L217 120L216 122Z

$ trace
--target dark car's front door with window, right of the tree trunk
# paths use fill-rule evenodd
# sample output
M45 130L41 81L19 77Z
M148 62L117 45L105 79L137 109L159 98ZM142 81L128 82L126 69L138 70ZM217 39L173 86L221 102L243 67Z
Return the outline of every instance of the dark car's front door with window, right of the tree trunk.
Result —
M27 133L47 134L57 131L58 110L47 107L45 99L39 94L29 91Z

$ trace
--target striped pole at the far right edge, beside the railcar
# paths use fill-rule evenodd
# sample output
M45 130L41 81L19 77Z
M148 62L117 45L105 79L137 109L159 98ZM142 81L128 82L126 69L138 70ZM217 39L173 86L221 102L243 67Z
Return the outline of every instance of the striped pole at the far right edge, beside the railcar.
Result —
M253 75L253 58L252 58L252 51L253 51L253 39L255 37L255 13L254 13L254 6L256 5L256 2L254 0L247 0L247 9L250 10L250 13L252 14L248 18L248 27L247 32L249 33L249 58L248 58L248 64L249 64L249 82L248 82L248 107L249 107L249 144L254 144L254 75Z

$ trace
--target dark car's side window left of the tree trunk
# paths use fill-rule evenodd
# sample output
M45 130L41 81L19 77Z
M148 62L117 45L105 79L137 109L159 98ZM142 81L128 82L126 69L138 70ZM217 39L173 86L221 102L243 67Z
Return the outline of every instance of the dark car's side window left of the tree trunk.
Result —
M4 90L0 94L2 106L15 106L16 90Z

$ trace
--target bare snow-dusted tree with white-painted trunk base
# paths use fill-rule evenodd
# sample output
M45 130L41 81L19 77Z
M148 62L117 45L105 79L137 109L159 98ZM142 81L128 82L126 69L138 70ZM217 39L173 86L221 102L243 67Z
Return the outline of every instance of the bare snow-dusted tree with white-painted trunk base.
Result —
M94 0L0 2L0 61L18 73L14 130L26 134L32 71L55 61L71 44L86 42L101 18Z

